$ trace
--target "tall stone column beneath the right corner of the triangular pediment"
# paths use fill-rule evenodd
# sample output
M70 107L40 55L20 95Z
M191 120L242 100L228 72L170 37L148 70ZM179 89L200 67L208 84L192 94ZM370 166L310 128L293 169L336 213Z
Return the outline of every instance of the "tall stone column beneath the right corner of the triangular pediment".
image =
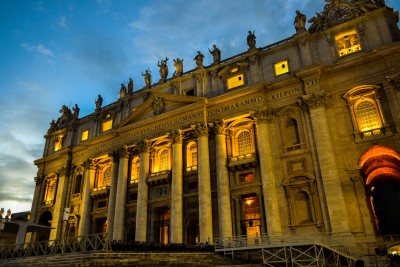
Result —
M205 123L195 126L198 143L199 226L200 243L213 240L211 210L210 158L208 151L208 127Z

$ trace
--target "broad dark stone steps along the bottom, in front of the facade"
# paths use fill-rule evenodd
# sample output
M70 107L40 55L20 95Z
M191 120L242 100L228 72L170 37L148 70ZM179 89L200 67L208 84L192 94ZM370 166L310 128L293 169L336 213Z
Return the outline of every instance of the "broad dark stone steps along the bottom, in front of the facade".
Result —
M92 252L68 253L52 256L34 256L0 260L0 267L91 267L91 266L262 266L248 264L246 259L232 261L230 258L213 252L185 252L185 253L132 253L132 252Z

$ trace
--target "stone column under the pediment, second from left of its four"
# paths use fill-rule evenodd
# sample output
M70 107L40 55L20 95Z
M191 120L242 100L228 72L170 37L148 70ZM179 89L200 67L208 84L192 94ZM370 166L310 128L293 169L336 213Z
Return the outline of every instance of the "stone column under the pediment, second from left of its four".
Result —
M143 140L138 144L140 151L138 198L136 207L135 241L146 242L147 235L147 201L149 190L146 179L149 175L150 142Z

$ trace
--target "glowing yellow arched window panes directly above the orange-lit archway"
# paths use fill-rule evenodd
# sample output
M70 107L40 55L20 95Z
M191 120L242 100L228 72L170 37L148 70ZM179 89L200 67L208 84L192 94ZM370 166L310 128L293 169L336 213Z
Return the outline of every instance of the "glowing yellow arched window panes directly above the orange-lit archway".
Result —
M382 122L376 104L371 100L361 100L355 107L358 127L361 132L379 129Z

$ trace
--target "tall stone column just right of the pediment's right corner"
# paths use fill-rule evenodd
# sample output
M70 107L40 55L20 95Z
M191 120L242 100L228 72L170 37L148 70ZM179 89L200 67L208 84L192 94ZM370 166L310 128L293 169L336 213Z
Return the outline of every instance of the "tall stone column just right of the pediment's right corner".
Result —
M232 236L231 193L227 169L225 123L216 122L215 131L219 237L223 239Z

